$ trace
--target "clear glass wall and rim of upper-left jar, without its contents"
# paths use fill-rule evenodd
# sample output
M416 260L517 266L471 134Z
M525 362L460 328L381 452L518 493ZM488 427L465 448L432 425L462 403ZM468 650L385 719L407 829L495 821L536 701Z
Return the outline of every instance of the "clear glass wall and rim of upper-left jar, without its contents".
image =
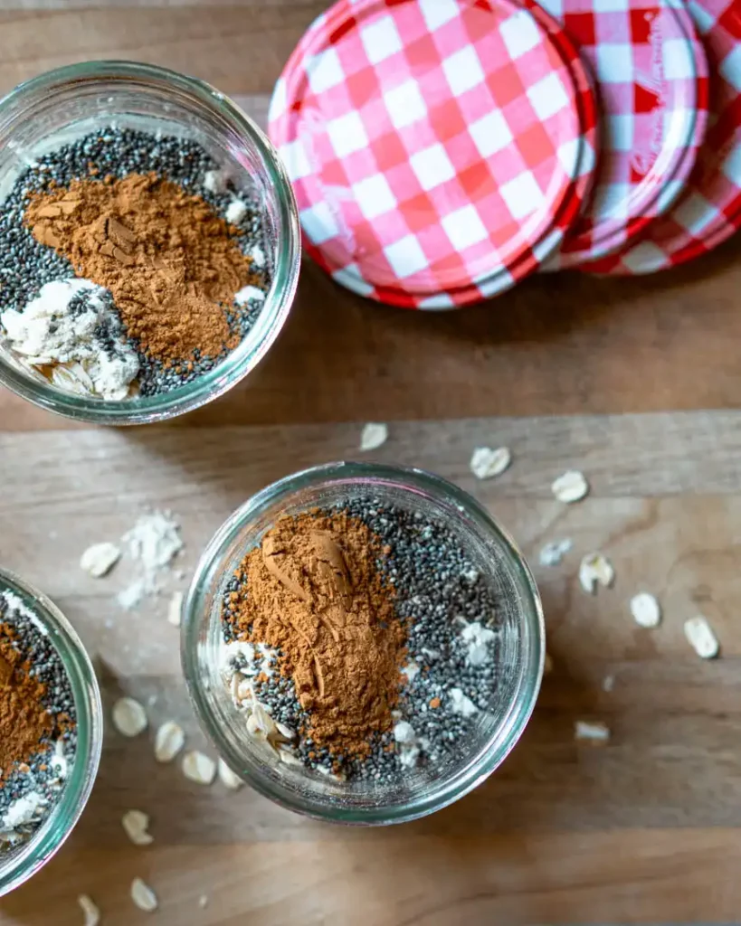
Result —
M245 340L210 372L170 393L114 402L62 392L0 346L0 382L38 406L95 424L145 424L205 405L254 369L278 336L298 282L300 234L291 182L267 137L203 81L128 61L85 61L21 83L0 100L0 200L33 157L97 126L193 139L263 206L270 292ZM2 205L0 205L2 208ZM0 295L0 308L2 296Z

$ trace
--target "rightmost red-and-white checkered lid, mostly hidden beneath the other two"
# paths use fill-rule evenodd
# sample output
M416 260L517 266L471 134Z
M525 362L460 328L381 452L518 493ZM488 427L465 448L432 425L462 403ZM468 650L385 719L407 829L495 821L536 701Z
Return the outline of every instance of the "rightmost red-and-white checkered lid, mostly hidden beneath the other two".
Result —
M691 0L708 53L710 119L687 189L641 241L595 264L595 273L653 273L707 254L741 228L741 0Z

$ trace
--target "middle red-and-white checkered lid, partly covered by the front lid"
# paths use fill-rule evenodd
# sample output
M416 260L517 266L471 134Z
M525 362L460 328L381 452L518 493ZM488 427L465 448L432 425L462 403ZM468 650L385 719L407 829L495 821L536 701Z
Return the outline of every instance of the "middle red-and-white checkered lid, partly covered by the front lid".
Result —
M541 0L593 69L603 111L592 202L546 269L624 247L684 189L707 124L708 66L683 0Z

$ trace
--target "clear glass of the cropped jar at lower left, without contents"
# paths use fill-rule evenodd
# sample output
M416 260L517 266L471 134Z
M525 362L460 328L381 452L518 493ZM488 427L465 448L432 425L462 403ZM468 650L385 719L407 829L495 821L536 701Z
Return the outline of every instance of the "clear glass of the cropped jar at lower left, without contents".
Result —
M0 569L0 592L17 594L41 621L57 649L77 712L77 751L57 806L31 838L0 854L0 897L28 881L55 855L80 819L93 790L103 745L103 708L93 665L69 620L45 594L15 573Z

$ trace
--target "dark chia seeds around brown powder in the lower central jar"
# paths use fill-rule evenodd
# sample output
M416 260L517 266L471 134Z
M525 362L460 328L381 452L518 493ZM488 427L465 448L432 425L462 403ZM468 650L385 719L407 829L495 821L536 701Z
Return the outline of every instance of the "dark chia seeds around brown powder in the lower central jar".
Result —
M377 567L393 586L396 616L408 628L408 681L400 686L394 729L371 743L369 757L330 754L309 737L299 737L293 751L307 769L347 781L394 782L413 770L434 775L471 744L491 707L498 675L496 594L442 522L372 497L335 510L362 521L388 551ZM224 588L221 626L227 644L234 640L230 595L242 581L234 577ZM471 628L484 633L473 660L467 628L469 634ZM280 657L280 651L273 652ZM254 678L254 667L245 666L239 655L232 657L231 668L253 675L257 700L273 720L292 731L311 726L290 679L277 670Z

